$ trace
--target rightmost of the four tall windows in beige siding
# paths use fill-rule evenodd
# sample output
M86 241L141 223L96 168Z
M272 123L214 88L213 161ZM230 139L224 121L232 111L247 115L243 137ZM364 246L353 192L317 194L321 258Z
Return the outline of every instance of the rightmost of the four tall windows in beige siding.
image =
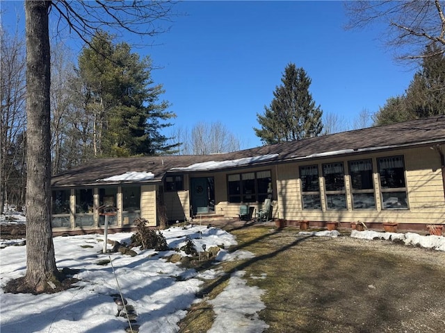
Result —
M382 209L407 210L408 200L403 156L381 157L377 159L377 163L380 174Z

